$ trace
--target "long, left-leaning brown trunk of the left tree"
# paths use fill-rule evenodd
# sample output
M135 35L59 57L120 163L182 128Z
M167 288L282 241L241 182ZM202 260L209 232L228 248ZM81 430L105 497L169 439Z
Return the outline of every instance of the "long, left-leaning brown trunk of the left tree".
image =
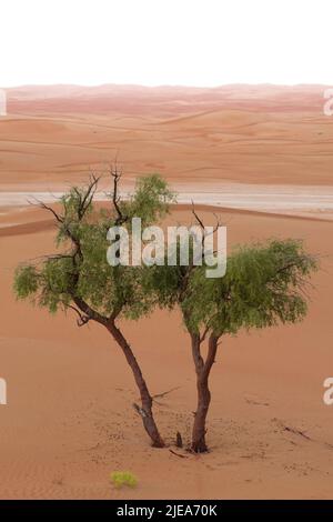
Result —
M143 375L142 375L140 365L135 359L135 355L132 352L130 344L127 342L127 340L122 335L121 331L117 328L114 322L108 323L107 328L109 332L111 333L111 335L113 337L113 339L119 344L119 347L121 348L121 350L123 351L124 357L127 358L127 361L133 372L134 380L139 388L140 398L141 398L141 408L137 406L137 410L141 415L143 426L152 441L152 445L154 448L164 448L165 444L159 433L158 426L153 418L152 396L149 393L148 387L143 379Z

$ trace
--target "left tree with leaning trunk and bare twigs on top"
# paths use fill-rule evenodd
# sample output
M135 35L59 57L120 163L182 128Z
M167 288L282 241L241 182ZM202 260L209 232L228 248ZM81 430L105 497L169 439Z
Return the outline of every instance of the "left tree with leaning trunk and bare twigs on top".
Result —
M72 188L60 200L61 210L39 203L54 218L57 245L61 253L47 255L39 263L17 268L14 292L18 299L31 299L51 313L72 310L78 325L89 321L103 325L122 350L140 392L141 406L134 404L153 446L162 448L149 392L139 362L120 325L121 318L139 319L153 307L142 290L141 267L111 267L107 261L107 233L112 225L124 225L131 232L131 218L140 217L143 225L162 219L173 201L167 183L158 175L139 179L129 200L119 195L120 172L111 170L113 190L111 207L98 209L94 195L99 179L91 177L88 187Z

